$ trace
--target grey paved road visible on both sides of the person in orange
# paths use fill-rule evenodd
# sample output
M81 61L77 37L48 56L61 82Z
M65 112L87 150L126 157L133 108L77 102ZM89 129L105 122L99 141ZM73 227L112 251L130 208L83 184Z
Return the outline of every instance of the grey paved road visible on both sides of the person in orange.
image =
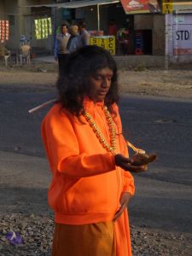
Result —
M27 203L26 187L33 191L33 207L45 201L49 172L39 127L47 108L31 115L27 110L52 97L48 92L0 95L0 183L7 186L11 175L15 183L9 185L9 194L17 188L10 205L16 200ZM135 178L131 223L192 232L192 102L130 96L122 97L120 105L125 137L158 154L148 172Z

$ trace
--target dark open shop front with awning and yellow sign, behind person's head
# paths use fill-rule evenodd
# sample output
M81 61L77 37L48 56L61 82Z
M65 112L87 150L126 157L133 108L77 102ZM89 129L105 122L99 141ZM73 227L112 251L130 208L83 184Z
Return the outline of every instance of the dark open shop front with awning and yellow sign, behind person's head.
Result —
M52 9L53 37L55 25L57 28L65 20L84 20L90 32L90 44L102 46L113 55L153 57L166 55L167 15L179 15L175 6L185 6L185 15L189 15L189 4L183 3L179 0L174 3L172 0L84 0L46 4L46 7ZM190 28L190 24L187 26ZM169 28L168 33L168 40L173 41L170 33L175 33L174 30ZM170 52L183 55L185 46L181 47L172 46Z

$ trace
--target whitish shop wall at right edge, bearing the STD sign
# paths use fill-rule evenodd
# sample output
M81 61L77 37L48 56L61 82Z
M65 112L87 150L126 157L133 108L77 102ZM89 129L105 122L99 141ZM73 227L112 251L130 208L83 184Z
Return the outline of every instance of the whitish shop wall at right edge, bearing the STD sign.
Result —
M174 0L165 11L166 59L172 63L191 63L192 2Z

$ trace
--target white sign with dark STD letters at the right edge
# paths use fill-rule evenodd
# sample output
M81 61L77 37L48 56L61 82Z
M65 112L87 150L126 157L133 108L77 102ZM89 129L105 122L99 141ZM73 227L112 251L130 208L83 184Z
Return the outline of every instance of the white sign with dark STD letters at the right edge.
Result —
M173 55L192 55L192 24L173 25Z

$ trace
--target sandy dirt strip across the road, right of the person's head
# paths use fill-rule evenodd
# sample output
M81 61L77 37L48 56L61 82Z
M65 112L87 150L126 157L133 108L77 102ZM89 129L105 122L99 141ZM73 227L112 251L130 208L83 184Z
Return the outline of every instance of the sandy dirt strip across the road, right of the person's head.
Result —
M192 99L191 70L124 70L119 72L121 93Z

